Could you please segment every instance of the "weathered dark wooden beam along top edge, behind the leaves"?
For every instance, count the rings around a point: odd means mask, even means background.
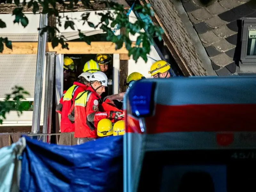
[[[129,9],[130,6],[126,3],[125,0],[113,0],[116,3],[119,3],[121,5],[124,5],[125,9]],[[77,11],[96,11],[96,10],[106,10],[106,9],[110,9],[109,7],[107,7],[105,4],[100,4],[101,2],[99,1],[93,1],[90,2],[90,6],[84,6],[84,4],[82,2],[78,2],[76,6],[74,6],[73,10],[68,10],[68,9],[64,9],[64,7],[61,4],[56,4],[56,8],[58,9],[59,12],[77,12]],[[65,4],[69,4],[69,2],[65,2]],[[42,12],[42,6],[40,4],[39,5],[39,12]],[[16,8],[17,6],[15,4],[0,4],[0,13],[1,14],[10,14],[13,12],[13,10]],[[23,12],[32,12],[33,10],[33,6],[28,8],[27,6],[23,7]]]

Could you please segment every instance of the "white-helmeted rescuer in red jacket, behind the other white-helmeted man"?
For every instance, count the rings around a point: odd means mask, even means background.
[[[89,72],[84,72],[79,75],[78,81],[74,82],[74,84],[60,99],[60,104],[56,107],[56,111],[60,111],[59,113],[61,113],[60,132],[75,131],[74,118],[70,119],[70,117],[68,117],[68,113],[78,93],[83,92],[88,88],[91,75],[92,74]]]

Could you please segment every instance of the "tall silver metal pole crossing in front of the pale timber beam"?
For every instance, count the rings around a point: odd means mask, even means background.
[[[47,14],[40,14],[39,28],[47,26]],[[35,94],[34,94],[34,109],[32,119],[32,133],[40,131],[40,114],[43,92],[43,79],[44,79],[44,56],[45,46],[47,40],[47,32],[40,36],[41,30],[38,32],[38,47],[37,47],[37,60],[36,60],[36,82],[35,82]]]

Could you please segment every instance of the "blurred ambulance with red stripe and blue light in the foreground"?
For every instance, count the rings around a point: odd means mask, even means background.
[[[143,79],[124,103],[124,192],[253,190],[256,77]]]

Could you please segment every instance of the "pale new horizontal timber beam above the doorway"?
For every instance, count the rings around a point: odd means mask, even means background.
[[[116,45],[112,42],[91,42],[91,45],[85,42],[67,42],[68,49],[62,49],[59,44],[54,49],[52,43],[46,44],[46,52],[56,52],[57,54],[127,54],[125,46],[116,50]],[[135,46],[135,42],[132,43]],[[4,45],[4,51],[0,54],[37,54],[37,42],[12,42],[12,50]]]

